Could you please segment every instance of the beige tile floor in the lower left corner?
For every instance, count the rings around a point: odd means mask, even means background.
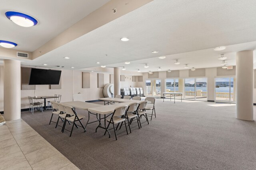
[[[25,121],[0,126],[0,170],[78,170]]]

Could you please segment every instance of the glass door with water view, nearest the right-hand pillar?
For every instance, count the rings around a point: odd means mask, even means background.
[[[236,78],[215,78],[215,101],[234,103],[236,101]]]

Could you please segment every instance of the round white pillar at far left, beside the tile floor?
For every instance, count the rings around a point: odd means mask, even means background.
[[[20,61],[4,60],[4,119],[20,119]]]

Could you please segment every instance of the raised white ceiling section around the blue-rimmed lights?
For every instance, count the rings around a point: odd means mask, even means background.
[[[34,51],[110,0],[1,0],[0,39],[17,43],[14,49]],[[7,11],[28,14],[38,24],[20,27],[5,16]]]

